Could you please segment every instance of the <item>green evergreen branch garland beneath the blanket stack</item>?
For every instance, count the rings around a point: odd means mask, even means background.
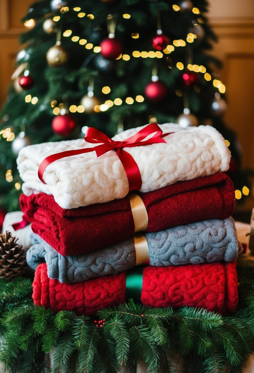
[[[242,372],[254,350],[254,262],[238,263],[239,308],[231,317],[207,310],[150,308],[133,300],[98,311],[98,320],[35,307],[31,280],[0,282],[0,360],[11,373]],[[96,324],[96,325],[95,325]],[[101,327],[100,327],[101,326]],[[46,354],[53,353],[53,369]]]

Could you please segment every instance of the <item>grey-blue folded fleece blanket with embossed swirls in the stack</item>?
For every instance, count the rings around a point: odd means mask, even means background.
[[[151,266],[179,266],[233,261],[240,249],[234,220],[213,219],[145,233]],[[35,233],[26,260],[33,269],[46,262],[48,276],[60,282],[78,282],[112,275],[135,266],[133,237],[91,253],[62,256]],[[85,243],[84,243],[85,244]]]

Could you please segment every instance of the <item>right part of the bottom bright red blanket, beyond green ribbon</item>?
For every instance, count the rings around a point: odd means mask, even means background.
[[[238,305],[236,262],[150,267],[143,271],[141,302],[155,307],[186,305],[225,316]]]

